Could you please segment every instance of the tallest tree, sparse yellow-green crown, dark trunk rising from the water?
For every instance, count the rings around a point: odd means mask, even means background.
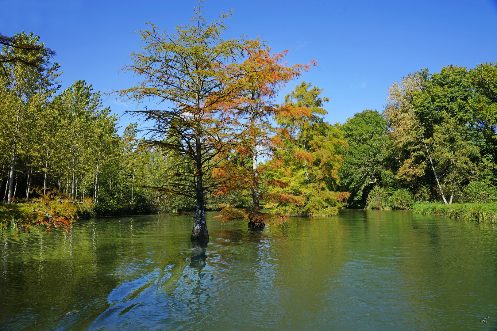
[[[148,138],[142,145],[162,152],[170,167],[163,185],[153,187],[159,195],[184,196],[196,201],[191,239],[208,239],[204,196],[231,180],[212,176],[228,151],[235,149],[245,134],[233,125],[226,105],[246,89],[247,52],[264,46],[258,40],[222,39],[226,29],[223,13],[208,23],[197,7],[191,21],[177,26],[174,34],[140,31],[140,53],[132,53],[133,64],[124,67],[142,81],[117,91],[123,100],[151,101],[155,106],[132,111],[147,123]]]

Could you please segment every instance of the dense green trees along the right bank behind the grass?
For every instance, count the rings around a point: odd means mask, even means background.
[[[337,125],[349,144],[341,172],[349,205],[398,190],[444,203],[494,199],[496,86],[493,63],[422,69],[389,88],[382,114],[365,110]]]

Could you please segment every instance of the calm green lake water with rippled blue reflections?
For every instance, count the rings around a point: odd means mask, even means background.
[[[251,231],[214,215],[206,247],[164,214],[0,231],[0,330],[497,328],[496,225],[344,210]]]

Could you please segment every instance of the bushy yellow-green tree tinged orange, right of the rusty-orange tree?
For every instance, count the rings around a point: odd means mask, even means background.
[[[286,144],[282,157],[291,174],[279,171],[272,176],[289,184],[285,192],[303,199],[300,205],[286,207],[290,214],[333,215],[349,197],[348,192],[337,192],[338,171],[343,164],[340,147],[347,143],[322,117],[328,114],[322,107],[329,100],[320,97],[322,91],[303,81],[285,96],[277,116]]]

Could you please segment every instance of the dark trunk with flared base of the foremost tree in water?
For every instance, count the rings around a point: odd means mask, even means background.
[[[197,189],[197,211],[195,220],[193,222],[193,229],[191,231],[191,240],[209,240],[209,232],[207,231],[207,224],[205,223],[205,205],[204,205],[204,186],[202,174],[202,145],[200,137],[196,139],[196,189]]]

